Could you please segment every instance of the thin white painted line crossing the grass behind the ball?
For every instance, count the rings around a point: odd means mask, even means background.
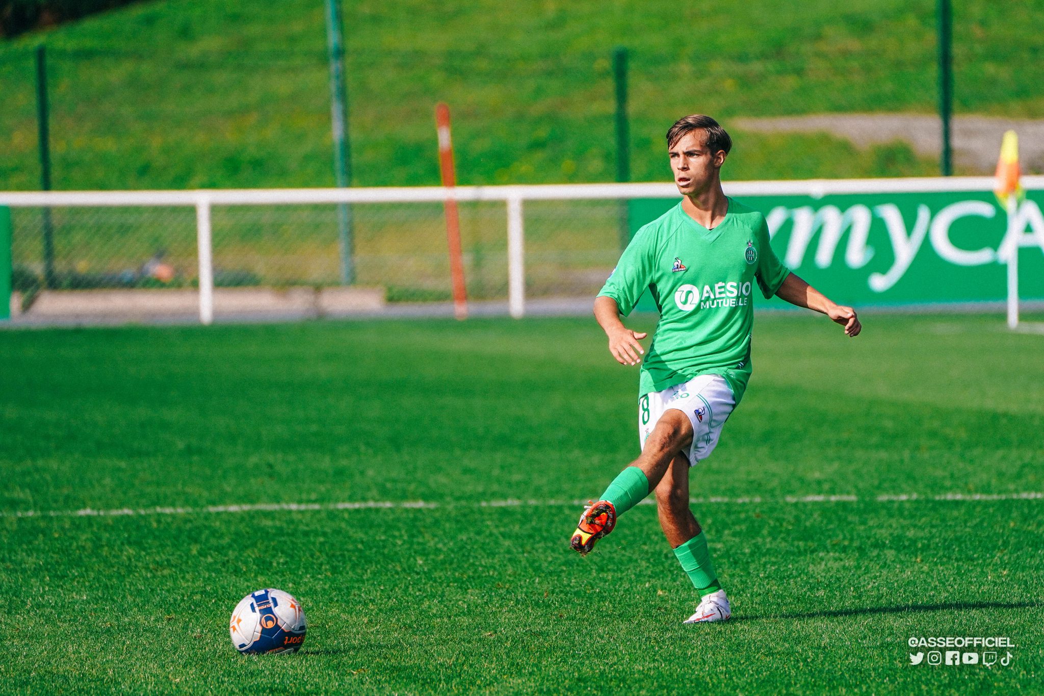
[[[860,500],[873,500],[879,503],[912,502],[912,501],[992,501],[992,500],[1044,500],[1044,493],[1004,493],[1004,494],[964,494],[948,493],[942,495],[881,495],[860,498],[859,496],[786,496],[785,498],[761,498],[760,496],[728,498],[690,498],[693,504],[723,503],[745,505],[751,503],[854,503]],[[95,518],[124,517],[144,514],[218,514],[221,512],[279,512],[279,511],[311,511],[311,510],[363,510],[373,508],[389,509],[433,509],[452,507],[541,507],[541,506],[582,506],[583,500],[490,500],[477,503],[431,503],[416,501],[360,501],[351,503],[246,503],[243,505],[210,505],[207,507],[121,507],[110,510],[96,510],[85,507],[79,510],[4,510],[0,518]],[[656,501],[646,498],[640,504],[655,505]]]

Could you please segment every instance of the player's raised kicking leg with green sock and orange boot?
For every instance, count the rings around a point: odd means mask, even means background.
[[[582,555],[595,542],[613,531],[616,517],[626,512],[651,493],[663,478],[671,460],[692,443],[692,424],[678,409],[668,409],[645,440],[641,455],[613,479],[598,502],[580,515],[570,546]]]

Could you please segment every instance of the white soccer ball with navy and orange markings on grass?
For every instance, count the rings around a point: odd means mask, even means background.
[[[229,632],[244,654],[296,652],[305,642],[305,611],[282,590],[258,590],[236,604]]]

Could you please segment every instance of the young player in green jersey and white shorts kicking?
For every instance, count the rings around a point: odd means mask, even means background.
[[[667,131],[682,201],[646,224],[598,293],[594,314],[617,362],[642,362],[644,333],[627,329],[648,289],[660,311],[641,367],[638,434],[642,453],[580,515],[571,546],[582,555],[613,531],[616,518],[656,491],[660,525],[701,595],[685,623],[725,621],[732,610],[714,573],[707,537],[689,510],[689,467],[717,445],[721,426],[751,378],[753,288],[861,329],[851,307],[834,304],[789,272],[768,245],[764,216],[721,191],[732,139],[709,116],[686,116]]]

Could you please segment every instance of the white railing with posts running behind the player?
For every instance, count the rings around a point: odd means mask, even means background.
[[[1044,189],[1044,176],[1023,176],[1024,189]],[[993,191],[992,176],[935,176],[918,178],[849,178],[779,182],[726,182],[725,192],[743,195],[807,195],[818,198],[851,193],[928,193]],[[193,191],[0,191],[0,206],[11,208],[185,206],[196,209],[199,263],[199,321],[214,318],[214,280],[211,259],[212,206],[280,206],[308,203],[390,203],[496,201],[506,205],[508,249],[508,308],[512,316],[525,314],[523,205],[526,200],[597,200],[678,198],[673,183],[549,184],[518,186],[387,187],[352,189],[200,189]],[[1012,255],[1013,257],[1015,255]],[[1009,277],[1017,273],[1013,267]],[[1017,295],[1009,285],[1009,303]]]

